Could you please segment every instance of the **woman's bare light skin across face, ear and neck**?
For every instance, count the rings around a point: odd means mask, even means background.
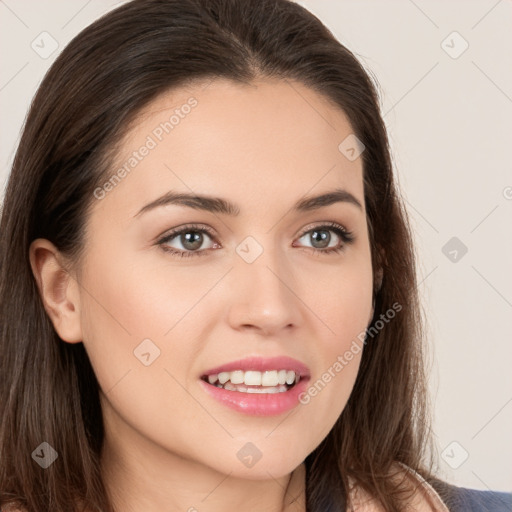
[[[303,461],[345,407],[362,352],[310,403],[279,416],[228,409],[199,376],[234,359],[288,355],[315,382],[366,329],[373,269],[362,160],[338,150],[353,133],[345,114],[305,86],[215,80],[153,101],[122,141],[117,164],[191,96],[198,105],[190,114],[103,199],[92,198],[80,265],[38,239],[32,268],[56,331],[84,343],[98,378],[102,468],[120,510],[305,510]],[[337,187],[363,208],[338,202],[291,211],[303,196]],[[169,190],[225,198],[240,214],[168,205],[136,216]],[[330,246],[345,247],[322,254],[310,235],[324,222],[354,241],[328,231]],[[189,223],[215,234],[203,235],[202,256],[180,258],[158,245]],[[247,236],[263,248],[250,264],[235,250]],[[166,244],[186,250],[180,237]],[[146,338],[160,349],[149,366],[133,353]],[[262,453],[251,468],[237,458],[248,442]]]

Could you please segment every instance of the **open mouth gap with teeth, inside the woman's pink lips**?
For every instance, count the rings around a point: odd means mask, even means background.
[[[299,381],[300,373],[294,370],[234,370],[231,372],[212,373],[203,375],[201,379],[217,388],[240,393],[275,394],[285,393]]]

